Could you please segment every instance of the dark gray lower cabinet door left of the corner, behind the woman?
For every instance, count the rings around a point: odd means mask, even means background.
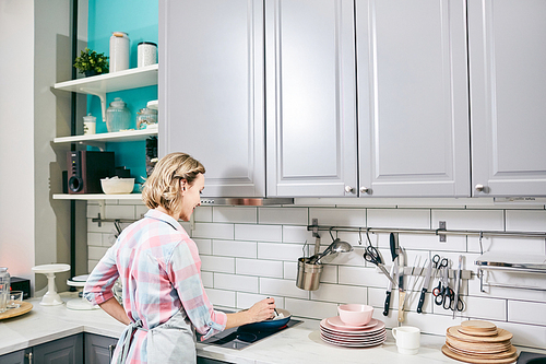
[[[34,347],[33,363],[83,364],[83,333]]]

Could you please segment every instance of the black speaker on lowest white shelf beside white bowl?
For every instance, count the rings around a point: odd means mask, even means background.
[[[114,152],[68,152],[68,192],[102,193],[100,178],[115,174]]]

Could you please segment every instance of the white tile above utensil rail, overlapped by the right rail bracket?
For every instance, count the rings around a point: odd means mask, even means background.
[[[503,231],[502,210],[432,210],[432,228],[446,221],[448,230]]]

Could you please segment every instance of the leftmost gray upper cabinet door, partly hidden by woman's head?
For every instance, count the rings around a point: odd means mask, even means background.
[[[163,0],[159,45],[159,155],[202,162],[203,196],[265,196],[262,1]]]

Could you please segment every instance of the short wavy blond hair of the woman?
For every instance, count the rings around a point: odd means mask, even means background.
[[[157,162],[152,175],[142,188],[142,200],[150,209],[163,207],[171,215],[181,209],[180,180],[192,185],[199,174],[204,174],[204,166],[186,153],[170,153]]]

